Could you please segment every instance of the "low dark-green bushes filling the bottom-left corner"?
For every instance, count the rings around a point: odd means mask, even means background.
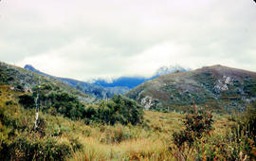
[[[9,142],[2,144],[1,160],[65,160],[71,152],[82,149],[77,139],[60,142],[52,137],[29,138],[22,134]]]

